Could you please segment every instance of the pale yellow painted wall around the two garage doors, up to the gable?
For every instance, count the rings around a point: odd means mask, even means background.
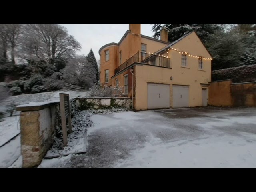
[[[192,33],[176,43],[173,48],[193,55],[211,58],[196,34]],[[181,54],[177,51],[169,51],[172,69],[156,66],[136,65],[136,110],[147,109],[147,83],[170,84],[170,107],[172,106],[172,84],[188,85],[189,107],[202,105],[202,84],[211,81],[211,60],[203,60],[203,70],[198,69],[198,58],[188,58],[188,68],[181,66]],[[170,77],[173,80],[170,80]]]

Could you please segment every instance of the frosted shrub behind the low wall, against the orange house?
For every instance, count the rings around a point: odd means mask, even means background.
[[[94,85],[90,88],[91,97],[123,97],[126,96],[123,93],[122,87],[108,87],[100,85]]]

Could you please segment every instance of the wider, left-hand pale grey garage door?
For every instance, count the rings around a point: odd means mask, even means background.
[[[148,83],[148,109],[170,108],[170,85]]]

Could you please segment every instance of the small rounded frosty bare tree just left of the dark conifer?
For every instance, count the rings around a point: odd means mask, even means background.
[[[63,78],[70,84],[90,88],[96,80],[95,68],[85,56],[76,56],[64,68]]]

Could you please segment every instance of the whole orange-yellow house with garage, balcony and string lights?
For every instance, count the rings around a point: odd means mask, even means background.
[[[129,24],[118,43],[99,50],[100,82],[124,87],[135,110],[206,106],[211,55],[196,32],[172,43],[167,38],[165,28],[158,40]]]

